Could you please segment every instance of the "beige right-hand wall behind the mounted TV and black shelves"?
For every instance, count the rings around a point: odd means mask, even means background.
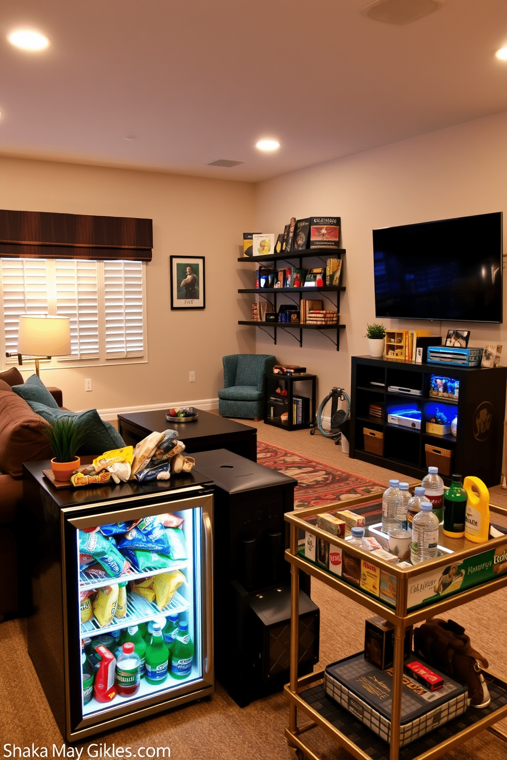
[[[506,134],[504,113],[259,183],[255,218],[263,232],[280,232],[292,216],[341,216],[347,249],[343,281],[347,290],[341,297],[341,321],[347,327],[341,332],[339,352],[315,331],[303,331],[300,349],[281,331],[273,347],[260,330],[256,331],[257,352],[274,351],[280,361],[301,364],[318,375],[319,401],[335,385],[348,391],[350,356],[368,353],[363,336],[366,323],[375,321],[372,229],[505,211]],[[504,249],[507,252],[505,242]],[[502,364],[507,364],[505,306],[504,320],[504,325],[470,324],[463,328],[471,330],[471,346],[502,343]],[[383,322],[387,328],[427,326],[433,334],[443,336],[454,326],[445,322]],[[330,408],[328,405],[326,413]]]

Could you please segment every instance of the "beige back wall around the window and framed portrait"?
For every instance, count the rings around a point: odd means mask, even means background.
[[[252,226],[253,185],[163,173],[0,158],[0,207],[149,217],[153,261],[147,265],[148,363],[41,369],[46,385],[74,409],[166,407],[217,398],[224,353],[255,351],[238,320],[236,259]],[[206,308],[170,309],[170,255],[204,255]],[[195,371],[196,382],[189,383]],[[23,372],[33,374],[33,364]],[[93,391],[84,392],[84,378]]]

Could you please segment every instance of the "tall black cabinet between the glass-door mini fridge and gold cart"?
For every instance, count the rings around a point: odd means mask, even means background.
[[[225,449],[195,454],[214,481],[214,662],[240,707],[289,681],[288,524],[297,481]],[[318,661],[319,610],[299,573],[300,673]]]

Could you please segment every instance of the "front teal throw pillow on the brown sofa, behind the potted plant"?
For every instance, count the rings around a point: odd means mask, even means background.
[[[79,426],[84,428],[84,440],[78,454],[85,456],[91,454],[97,456],[104,451],[111,451],[112,448],[122,448],[125,441],[119,434],[118,430],[106,420],[101,420],[97,409],[87,409],[84,412],[70,412],[65,409],[56,409],[47,407],[46,404],[40,404],[37,401],[29,401],[30,407],[36,414],[40,414],[44,420],[50,424],[54,423],[59,417],[73,417],[78,421]]]

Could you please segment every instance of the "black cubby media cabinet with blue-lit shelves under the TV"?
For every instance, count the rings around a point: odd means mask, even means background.
[[[353,356],[349,456],[419,480],[429,464],[441,463],[445,483],[460,473],[498,486],[506,379],[507,367]],[[431,422],[436,413],[449,423],[439,432]]]

